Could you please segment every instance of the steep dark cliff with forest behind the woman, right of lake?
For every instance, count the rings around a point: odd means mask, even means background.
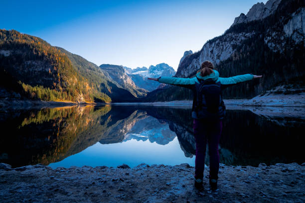
[[[226,89],[223,93],[226,98],[251,98],[284,83],[304,89],[304,6],[301,0],[255,4],[247,15],[236,18],[223,35],[208,40],[200,51],[183,56],[175,77],[192,77],[200,64],[209,60],[220,77],[263,75],[261,80]],[[168,87],[153,91],[146,101],[191,98],[188,90]]]

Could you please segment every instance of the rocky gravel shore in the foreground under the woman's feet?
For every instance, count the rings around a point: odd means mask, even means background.
[[[204,176],[207,177],[207,166]],[[220,164],[218,190],[194,186],[194,168],[141,164],[118,168],[56,168],[34,165],[11,169],[0,164],[1,203],[129,202],[129,203],[302,203],[305,163],[266,166]]]

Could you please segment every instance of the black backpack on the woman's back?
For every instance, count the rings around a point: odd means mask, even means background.
[[[198,81],[195,84],[197,119],[222,119],[225,116],[225,105],[222,101],[221,84],[212,79]]]

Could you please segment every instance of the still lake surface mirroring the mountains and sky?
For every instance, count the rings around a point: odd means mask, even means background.
[[[52,167],[123,163],[133,167],[143,162],[194,165],[189,108],[89,105],[0,115],[0,127],[7,133],[0,136],[0,162],[12,167],[38,163]],[[221,163],[305,162],[305,138],[300,134],[304,118],[227,110],[223,123]]]

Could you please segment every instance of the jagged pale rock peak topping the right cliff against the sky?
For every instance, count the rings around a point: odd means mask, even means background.
[[[246,15],[241,13],[239,17],[236,17],[232,26],[238,23],[250,22],[252,20],[260,20],[265,18],[274,13],[280,2],[281,0],[268,0],[266,4],[263,2],[256,3],[250,8]]]

